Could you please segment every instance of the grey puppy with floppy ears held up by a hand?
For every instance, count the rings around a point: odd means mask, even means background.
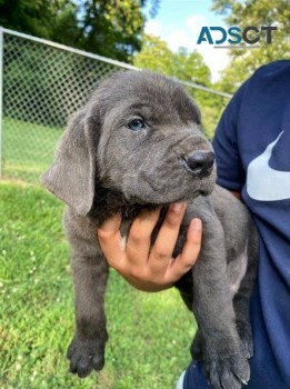
[[[256,232],[242,203],[216,186],[214,170],[198,107],[177,82],[160,74],[114,73],[73,116],[56,161],[41,179],[69,206],[64,228],[76,289],[71,372],[86,377],[104,365],[109,267],[96,239],[97,227],[120,212],[126,235],[140,210],[161,206],[160,226],[170,203],[187,201],[174,256],[190,220],[198,217],[203,222],[199,259],[177,282],[199,325],[191,352],[203,360],[214,389],[238,389],[249,380]]]

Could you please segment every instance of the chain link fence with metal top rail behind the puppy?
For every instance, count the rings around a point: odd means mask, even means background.
[[[121,68],[133,67],[0,28],[0,177],[38,182],[68,117]]]

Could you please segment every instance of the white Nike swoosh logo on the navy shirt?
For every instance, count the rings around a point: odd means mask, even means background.
[[[269,166],[272,149],[278,143],[283,131],[266,150],[248,166],[248,194],[260,201],[277,201],[290,199],[290,171],[280,171]]]

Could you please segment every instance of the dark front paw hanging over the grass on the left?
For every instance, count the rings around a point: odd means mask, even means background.
[[[94,339],[80,341],[74,337],[69,346],[67,358],[70,360],[70,372],[80,378],[89,376],[92,369],[99,371],[104,365],[104,345]]]

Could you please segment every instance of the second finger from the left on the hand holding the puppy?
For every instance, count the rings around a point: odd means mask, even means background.
[[[133,263],[147,262],[151,247],[151,235],[160,216],[160,209],[156,211],[142,211],[133,221],[128,240],[127,257]]]

